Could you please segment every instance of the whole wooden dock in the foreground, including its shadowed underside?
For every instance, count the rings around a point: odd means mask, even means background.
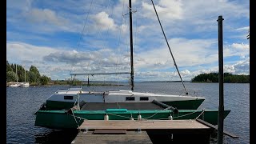
[[[78,129],[72,143],[207,143],[213,130],[196,120],[85,120]]]

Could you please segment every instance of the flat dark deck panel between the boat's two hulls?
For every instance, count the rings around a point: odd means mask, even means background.
[[[127,110],[163,110],[164,107],[158,106],[153,102],[113,102],[99,103],[88,102],[82,106],[81,110],[106,110],[106,109],[127,109]]]

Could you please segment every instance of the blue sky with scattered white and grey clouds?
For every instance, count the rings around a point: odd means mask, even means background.
[[[134,81],[180,80],[150,0],[132,0]],[[250,1],[154,0],[182,80],[218,72],[218,16],[224,72],[250,74]],[[6,60],[53,80],[72,73],[130,72],[128,0],[8,0]],[[87,76],[78,77],[79,79]],[[130,75],[92,80],[129,81]]]

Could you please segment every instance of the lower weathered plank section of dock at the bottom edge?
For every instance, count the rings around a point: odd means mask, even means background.
[[[93,131],[79,132],[72,144],[123,143],[152,144],[146,131],[126,131],[126,134],[94,134]]]

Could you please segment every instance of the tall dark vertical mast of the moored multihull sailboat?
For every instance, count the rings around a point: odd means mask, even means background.
[[[130,81],[131,90],[134,90],[134,48],[133,48],[133,17],[131,11],[131,0],[129,0],[129,15],[130,15]]]

